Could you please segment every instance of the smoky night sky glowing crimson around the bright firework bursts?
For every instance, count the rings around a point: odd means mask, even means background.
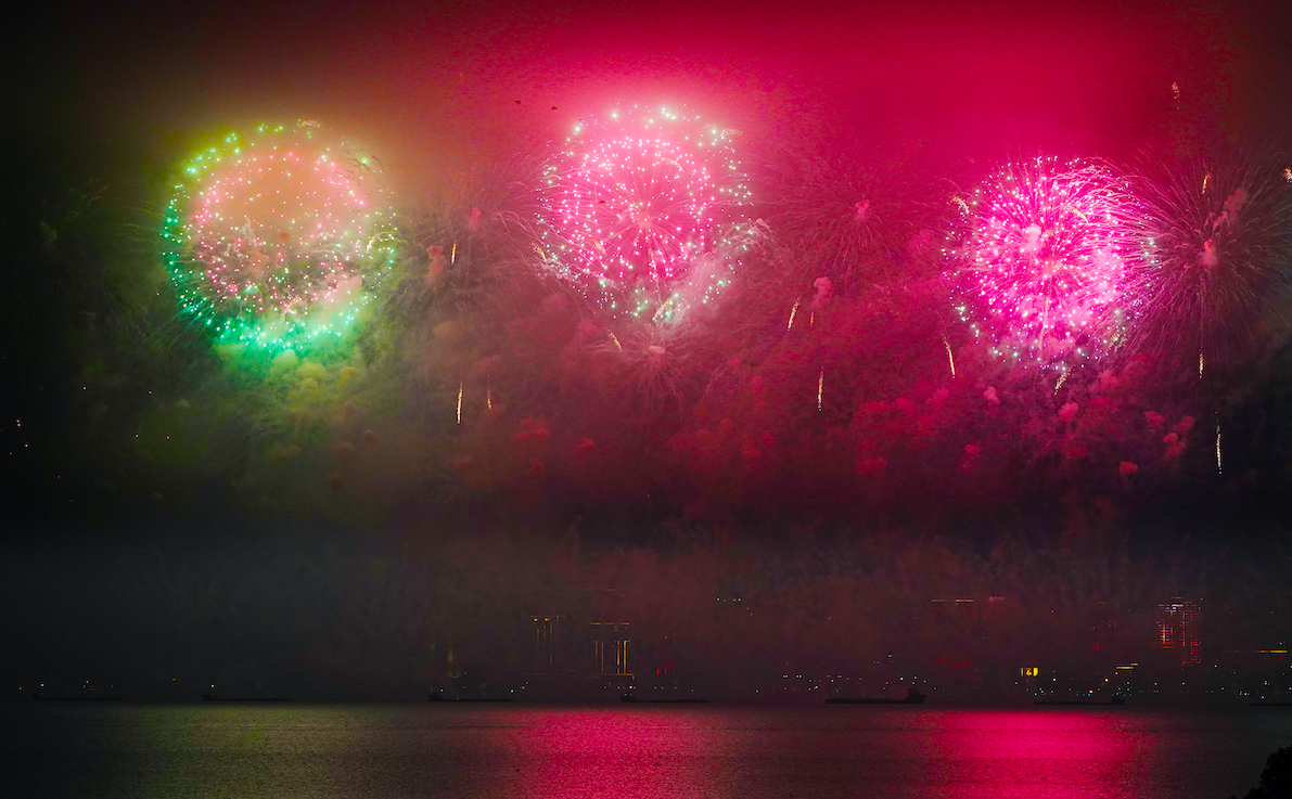
[[[6,696],[399,698],[453,676],[446,648],[505,683],[552,612],[633,622],[647,661],[682,640],[699,685],[1061,660],[1099,603],[1137,630],[1177,595],[1217,652],[1292,638],[1287,201],[1205,379],[1167,334],[1059,386],[1006,368],[929,245],[1039,155],[1292,167],[1287,4],[56,3],[5,27]],[[461,232],[525,218],[574,124],[638,102],[733,133],[779,253],[668,329],[607,320],[512,228]],[[178,312],[163,212],[199,145],[301,119],[380,160],[403,279],[341,350],[248,365]],[[864,278],[805,254],[814,197],[846,192],[882,231]],[[979,595],[1031,621],[953,645],[894,621]]]

